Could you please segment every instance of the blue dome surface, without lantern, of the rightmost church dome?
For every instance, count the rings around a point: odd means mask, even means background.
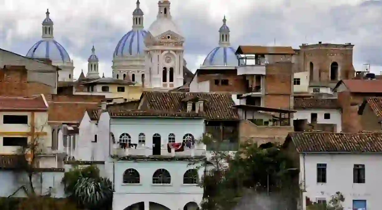
[[[216,47],[204,59],[203,66],[238,66],[235,51],[232,47]]]

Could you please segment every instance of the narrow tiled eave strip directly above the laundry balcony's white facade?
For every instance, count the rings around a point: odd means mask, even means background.
[[[173,111],[158,111],[158,110],[109,110],[112,117],[139,117],[139,116],[157,116],[171,118],[202,118],[203,115],[196,112],[173,112]]]

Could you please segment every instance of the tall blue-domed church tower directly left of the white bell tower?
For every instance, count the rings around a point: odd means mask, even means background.
[[[113,53],[113,78],[125,79],[144,84],[145,56],[144,39],[147,31],[143,25],[143,11],[139,8],[137,0],[133,11],[133,28],[127,32],[118,42]]]

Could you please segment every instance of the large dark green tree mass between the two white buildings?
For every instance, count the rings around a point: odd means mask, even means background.
[[[203,141],[219,144],[208,138]],[[292,160],[281,146],[268,143],[259,147],[247,143],[232,155],[222,151],[212,153],[204,165],[209,171],[201,183],[202,209],[232,209],[249,191],[281,193],[288,202],[295,202],[299,196],[298,170],[293,168]]]

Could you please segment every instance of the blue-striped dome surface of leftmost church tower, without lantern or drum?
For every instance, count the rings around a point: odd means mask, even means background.
[[[26,57],[29,58],[49,58],[51,61],[70,62],[70,57],[65,48],[55,40],[40,40],[34,44]]]

